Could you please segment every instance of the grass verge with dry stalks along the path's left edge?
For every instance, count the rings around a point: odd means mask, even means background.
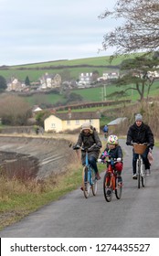
[[[103,166],[99,165],[99,170]],[[45,181],[0,177],[0,229],[23,219],[50,202],[58,200],[81,185],[82,166],[70,166],[69,171],[49,176]]]

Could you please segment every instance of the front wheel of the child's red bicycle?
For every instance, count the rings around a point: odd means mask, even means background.
[[[104,179],[103,179],[103,192],[104,192],[104,197],[106,201],[111,202],[111,198],[112,198],[111,176],[108,175],[107,173],[104,175]]]

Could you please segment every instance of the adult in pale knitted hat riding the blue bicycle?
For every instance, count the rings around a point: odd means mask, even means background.
[[[92,146],[93,144],[95,145]],[[97,167],[97,159],[100,155],[100,148],[102,144],[97,131],[88,122],[83,123],[81,126],[78,142],[74,147],[76,148],[78,147],[78,145],[84,148],[90,148],[92,146],[92,148],[89,151],[89,163],[96,173],[96,178],[101,179],[101,176],[99,175],[99,171]],[[82,165],[85,165],[85,158],[86,158],[86,153],[82,151],[81,152]]]

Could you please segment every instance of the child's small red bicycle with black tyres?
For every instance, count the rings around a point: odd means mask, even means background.
[[[115,192],[117,199],[121,199],[122,184],[118,185],[118,176],[117,171],[115,170],[115,164],[118,161],[116,159],[110,159],[110,157],[107,156],[106,159],[99,162],[107,165],[107,169],[103,178],[103,192],[106,201],[111,202],[113,192]]]

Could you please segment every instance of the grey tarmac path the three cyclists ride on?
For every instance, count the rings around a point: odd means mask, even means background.
[[[0,231],[2,238],[158,238],[159,237],[159,149],[154,147],[154,164],[146,187],[132,180],[132,147],[120,140],[124,151],[122,198],[113,194],[105,201],[102,178],[98,195],[84,198],[80,188],[38,209]],[[104,168],[104,165],[103,165]]]

